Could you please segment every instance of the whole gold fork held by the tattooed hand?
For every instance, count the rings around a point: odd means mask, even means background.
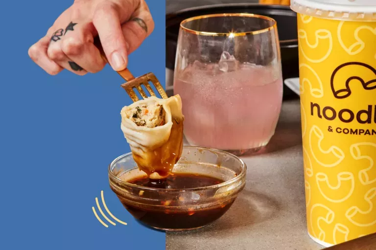
[[[100,54],[102,55],[103,59],[105,59],[107,62],[106,55],[104,54],[102,45],[100,44],[99,40],[96,39],[94,41],[94,44],[99,49]],[[151,88],[149,82],[153,83],[155,88],[157,89],[158,93],[161,95],[163,99],[167,99],[167,94],[164,92],[164,89],[157,79],[157,77],[153,73],[147,73],[145,75],[142,75],[140,77],[135,78],[132,73],[129,71],[128,68],[124,70],[117,71],[118,74],[125,80],[127,83],[121,84],[121,87],[127,91],[129,97],[132,99],[133,102],[139,101],[139,97],[135,93],[134,89],[137,89],[143,99],[148,98],[145,91],[143,91],[141,85],[144,85],[147,92],[150,94],[150,96],[156,96],[153,89]]]

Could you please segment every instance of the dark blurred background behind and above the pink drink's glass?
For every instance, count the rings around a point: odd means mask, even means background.
[[[298,32],[296,13],[290,0],[166,0],[166,92],[173,95],[173,79],[180,22],[215,13],[252,13],[277,21],[282,57],[282,76],[289,86],[299,84]],[[286,84],[283,100],[299,96]]]

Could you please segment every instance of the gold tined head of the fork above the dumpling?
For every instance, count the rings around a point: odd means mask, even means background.
[[[133,90],[134,88],[136,88],[140,92],[143,99],[148,97],[146,95],[146,93],[143,91],[141,85],[145,86],[146,90],[149,92],[149,94],[151,96],[156,96],[153,89],[151,88],[149,82],[153,83],[153,85],[155,86],[158,93],[161,95],[161,97],[163,99],[167,99],[166,92],[164,92],[164,89],[163,89],[161,83],[159,82],[159,80],[157,79],[157,77],[153,73],[147,73],[147,74],[140,76],[140,77],[137,77],[137,78],[135,78],[135,79],[133,79],[133,80],[127,82],[127,83],[123,83],[123,84],[121,84],[121,87],[124,88],[125,91],[127,91],[129,97],[132,99],[133,102],[137,102],[137,101],[139,101],[139,97],[137,96],[137,94]]]

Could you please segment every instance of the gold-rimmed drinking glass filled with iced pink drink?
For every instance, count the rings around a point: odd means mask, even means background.
[[[258,152],[274,135],[282,87],[275,20],[213,14],[180,24],[174,94],[183,101],[190,145]]]

